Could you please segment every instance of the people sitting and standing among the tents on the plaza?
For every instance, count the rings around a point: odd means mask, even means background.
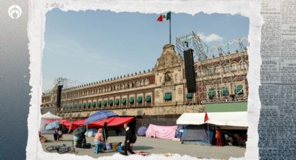
[[[136,136],[136,122],[133,120],[132,122],[125,123],[123,125],[125,129],[125,141],[124,145],[120,146],[122,149],[120,150],[120,154],[128,155],[128,152],[130,154],[135,154],[135,152],[132,150],[132,143],[135,143],[137,140]],[[178,132],[178,135],[176,137],[180,138],[182,136],[183,127],[179,128],[180,132]],[[220,127],[213,127],[214,134],[212,137],[212,145],[222,146],[222,145],[237,145],[240,147],[246,146],[247,141],[247,134],[244,134],[243,132],[235,133],[235,131],[228,131],[223,130],[221,131]],[[68,129],[68,134],[73,134],[73,146],[76,147],[83,147],[87,144],[91,145],[90,143],[86,143],[86,131],[87,129],[84,128],[82,131],[79,131],[79,133],[72,133],[72,125],[70,125]],[[117,134],[117,133],[116,133]],[[63,131],[62,126],[56,127],[54,129],[54,141],[60,141],[63,137]],[[98,132],[94,136],[93,140],[93,146],[97,146],[100,148],[100,152],[104,152],[104,150],[108,150],[107,147],[107,141],[109,137],[109,129],[107,122],[104,123],[104,126],[98,129]],[[42,137],[40,136],[40,139]],[[122,144],[122,143],[120,143]]]

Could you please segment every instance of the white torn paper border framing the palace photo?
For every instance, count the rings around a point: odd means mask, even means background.
[[[251,0],[200,0],[200,1],[120,1],[120,0],[29,0],[29,70],[32,86],[31,102],[28,116],[28,143],[26,146],[26,159],[94,159],[88,156],[77,156],[74,154],[55,154],[42,150],[38,138],[38,129],[40,125],[40,104],[42,96],[42,73],[41,60],[42,49],[44,48],[45,33],[45,14],[53,8],[60,8],[63,11],[68,10],[110,10],[118,12],[139,12],[139,13],[164,13],[171,11],[173,13],[187,13],[195,15],[196,13],[229,13],[231,15],[240,14],[249,17],[249,72],[247,79],[249,82],[248,97],[248,141],[244,157],[240,159],[258,159],[258,120],[260,115],[260,100],[258,86],[260,85],[260,34],[263,19],[260,16],[260,1]],[[100,159],[196,159],[189,156],[164,157],[162,155],[152,154],[148,157],[132,155],[124,157],[115,154],[111,157],[100,157]],[[237,158],[231,158],[237,159]]]

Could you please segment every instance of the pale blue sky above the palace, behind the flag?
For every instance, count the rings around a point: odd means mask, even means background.
[[[49,11],[45,22],[42,90],[54,79],[83,83],[151,69],[169,43],[169,22],[157,14],[114,13],[106,10]],[[171,14],[171,38],[195,31],[207,45],[217,45],[249,33],[241,15]]]

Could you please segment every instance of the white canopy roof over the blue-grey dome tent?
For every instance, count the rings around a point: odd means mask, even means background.
[[[248,127],[247,112],[210,112],[208,123],[219,126]],[[183,113],[177,120],[177,125],[202,125],[207,122],[205,113]]]

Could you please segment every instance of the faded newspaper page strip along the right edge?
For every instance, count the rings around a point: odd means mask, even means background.
[[[290,159],[296,155],[295,8],[294,0],[262,1],[260,159]]]

